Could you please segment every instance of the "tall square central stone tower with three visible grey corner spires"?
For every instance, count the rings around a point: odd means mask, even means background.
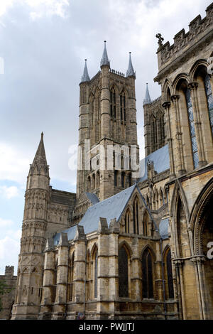
[[[77,198],[88,192],[104,200],[133,183],[131,149],[138,164],[139,147],[131,53],[126,75],[112,70],[104,41],[100,68],[90,79],[85,60],[80,82]]]

